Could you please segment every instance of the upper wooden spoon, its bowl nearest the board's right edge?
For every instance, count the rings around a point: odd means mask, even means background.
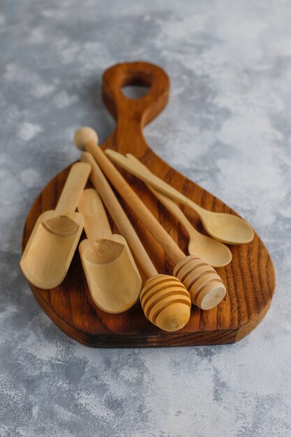
[[[205,230],[211,237],[227,244],[243,244],[252,241],[254,236],[253,229],[242,218],[232,214],[226,214],[225,212],[213,212],[204,209],[193,202],[193,200],[179,193],[179,191],[154,175],[154,173],[149,175],[149,170],[146,172],[141,168],[136,168],[132,161],[129,161],[126,156],[111,149],[106,149],[105,153],[114,163],[120,165],[120,167],[127,170],[131,175],[138,177],[146,184],[156,188],[156,190],[161,191],[177,202],[193,209],[200,217]]]

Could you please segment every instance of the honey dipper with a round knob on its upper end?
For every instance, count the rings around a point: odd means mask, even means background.
[[[80,128],[75,133],[75,145],[94,156],[112,185],[170,256],[176,265],[173,273],[186,286],[193,304],[201,309],[211,309],[219,304],[223,297],[225,297],[225,286],[220,276],[207,262],[193,255],[186,256],[181,251],[170,235],[167,234],[161,223],[158,223],[154,215],[151,214],[124,177],[121,176],[117,168],[107,158],[102,149],[97,147],[96,132],[91,128]]]

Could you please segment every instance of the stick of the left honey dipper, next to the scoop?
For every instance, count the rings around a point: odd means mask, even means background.
[[[110,215],[112,216],[114,223],[116,223],[117,228],[119,228],[121,234],[126,238],[130,249],[133,251],[135,258],[144,270],[144,273],[148,277],[156,275],[156,267],[154,267],[154,264],[151,262],[149,255],[145,251],[139,237],[137,237],[137,233],[133,229],[133,225],[128,220],[126,213],[119,204],[119,201],[114,195],[110,184],[108,184],[107,179],[103,175],[103,172],[101,172],[93,156],[87,152],[84,152],[81,156],[81,161],[91,165],[91,182],[100,194],[100,197],[105,203],[107,210],[110,212]]]

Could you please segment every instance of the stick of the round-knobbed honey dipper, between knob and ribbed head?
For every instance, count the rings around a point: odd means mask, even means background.
[[[135,214],[140,218],[140,221],[144,223],[149,232],[151,232],[151,235],[153,235],[157,242],[165,249],[165,252],[170,256],[172,261],[177,264],[179,260],[185,258],[185,254],[181,251],[179,246],[177,246],[163,226],[158,223],[156,217],[147,209],[142,200],[140,200],[135,191],[133,191],[133,188],[129,186],[110,159],[107,158],[103,150],[93,141],[88,142],[85,149],[94,156],[112,185],[117,189],[130,208],[133,209]]]

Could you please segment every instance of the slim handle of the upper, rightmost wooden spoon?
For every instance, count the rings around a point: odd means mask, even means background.
[[[109,156],[111,161],[113,161],[117,165],[120,165],[121,168],[124,168],[124,170],[128,171],[131,175],[138,177],[143,182],[145,182],[145,184],[153,186],[158,191],[161,191],[170,198],[190,207],[198,214],[198,216],[202,217],[202,215],[208,214],[208,211],[206,209],[200,207],[199,205],[197,205],[197,203],[186,198],[186,195],[179,193],[178,190],[167,184],[167,182],[163,181],[158,176],[154,175],[154,173],[152,173],[149,169],[147,169],[147,172],[145,172],[144,169],[137,168],[137,166],[133,164],[128,156],[119,154],[118,151],[112,149],[106,149],[105,154]]]

